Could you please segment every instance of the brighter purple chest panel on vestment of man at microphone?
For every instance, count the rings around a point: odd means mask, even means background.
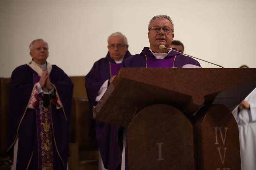
[[[157,58],[146,56],[146,62],[147,62],[146,67],[147,68],[171,68],[171,67],[174,67],[175,57],[166,58],[166,59],[157,59]]]

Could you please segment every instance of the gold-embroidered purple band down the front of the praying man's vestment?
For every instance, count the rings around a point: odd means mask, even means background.
[[[34,83],[39,82],[40,77],[34,74]],[[54,168],[54,155],[53,155],[53,126],[51,115],[51,104],[48,107],[43,105],[43,93],[38,94],[38,101],[36,105],[37,113],[37,143],[34,148],[38,153],[38,169],[55,169]]]

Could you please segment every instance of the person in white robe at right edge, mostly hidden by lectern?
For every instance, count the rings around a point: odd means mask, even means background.
[[[239,68],[248,69],[246,65]],[[256,169],[256,88],[232,111],[239,129],[242,170]]]

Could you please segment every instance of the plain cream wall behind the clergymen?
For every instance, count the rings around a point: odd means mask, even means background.
[[[49,44],[49,63],[70,76],[86,75],[106,55],[113,32],[126,35],[132,54],[148,47],[155,15],[172,18],[186,54],[225,68],[256,68],[255,8],[255,0],[0,0],[0,77],[31,60],[28,46],[37,38]]]

